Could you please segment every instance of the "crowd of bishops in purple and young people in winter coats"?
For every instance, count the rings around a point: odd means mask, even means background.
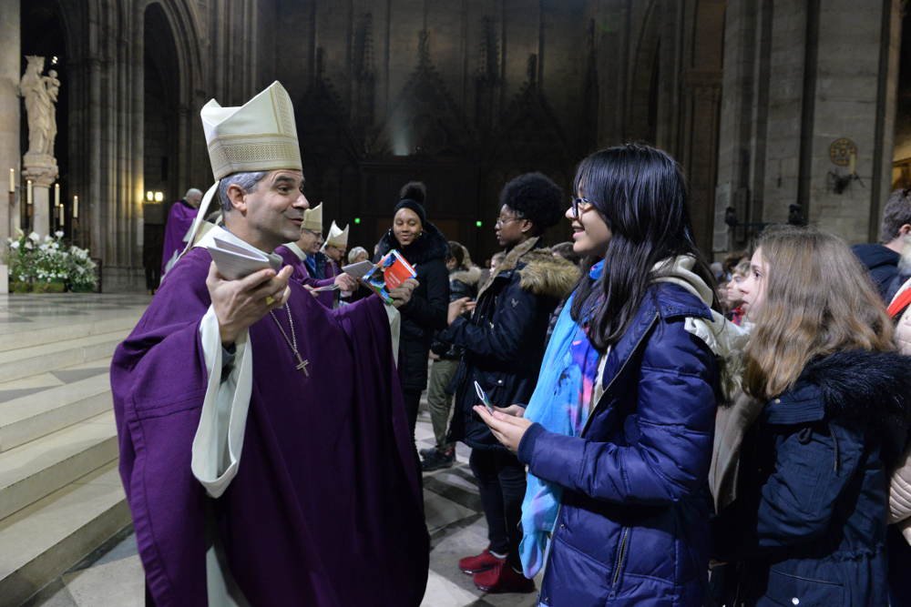
[[[216,185],[111,371],[148,602],[419,604],[421,472],[462,442],[487,544],[452,566],[481,591],[911,604],[907,190],[883,244],[769,227],[710,264],[679,164],[609,147],[569,193],[510,180],[479,268],[420,182],[373,255],[335,222],[323,238],[278,83],[202,114]],[[238,134],[293,146],[245,157]],[[571,241],[548,247],[561,221]],[[228,280],[215,237],[282,267]],[[393,250],[416,277],[384,304],[342,268]]]

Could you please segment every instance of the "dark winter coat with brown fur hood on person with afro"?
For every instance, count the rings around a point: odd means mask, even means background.
[[[455,411],[450,440],[473,449],[505,450],[472,407],[477,381],[496,407],[531,398],[544,357],[550,313],[578,281],[579,271],[530,238],[509,252],[481,288],[471,319],[455,319],[439,338],[465,349],[450,388]]]

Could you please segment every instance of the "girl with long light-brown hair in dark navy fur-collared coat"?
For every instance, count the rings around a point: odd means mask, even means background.
[[[887,470],[906,440],[911,364],[839,238],[768,231],[740,288],[755,322],[744,389],[765,405],[716,521],[734,572],[723,602],[885,605]]]

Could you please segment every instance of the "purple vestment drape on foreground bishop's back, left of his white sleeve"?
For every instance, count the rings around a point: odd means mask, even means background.
[[[205,284],[185,279],[189,269],[171,270],[111,362],[120,476],[158,605],[206,604],[205,492],[189,446],[206,392],[199,321],[210,302]]]

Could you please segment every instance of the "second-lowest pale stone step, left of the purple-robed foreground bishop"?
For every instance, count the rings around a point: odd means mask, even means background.
[[[0,520],[117,457],[113,411],[0,453]]]

